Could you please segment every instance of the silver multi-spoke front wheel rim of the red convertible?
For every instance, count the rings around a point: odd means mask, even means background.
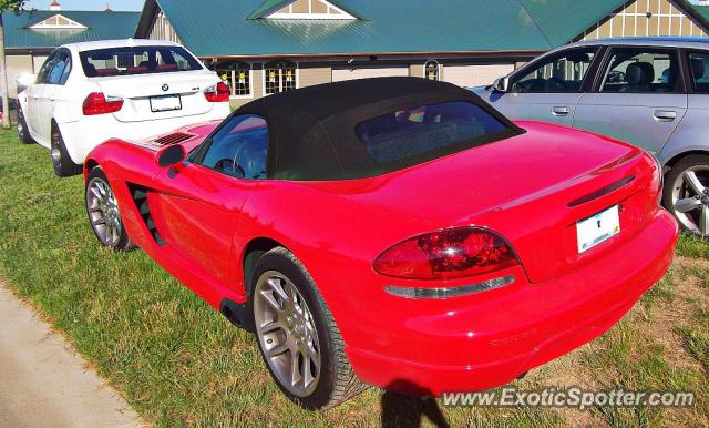
[[[86,210],[91,226],[103,245],[115,247],[121,240],[123,223],[119,203],[109,183],[100,177],[91,179],[86,192]]]

